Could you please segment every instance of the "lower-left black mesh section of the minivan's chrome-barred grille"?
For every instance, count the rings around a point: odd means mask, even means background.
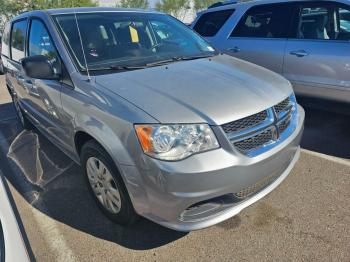
[[[273,129],[265,130],[255,136],[234,143],[234,146],[243,154],[267,145],[274,140]]]

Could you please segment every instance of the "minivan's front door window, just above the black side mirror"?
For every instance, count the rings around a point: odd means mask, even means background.
[[[52,63],[54,70],[58,73],[60,60],[51,37],[44,24],[39,20],[32,20],[29,32],[28,55],[47,56]]]

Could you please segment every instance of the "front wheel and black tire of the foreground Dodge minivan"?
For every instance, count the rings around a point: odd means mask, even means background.
[[[80,159],[87,185],[102,212],[117,224],[133,224],[138,216],[131,203],[124,181],[108,153],[96,141],[90,140],[83,145]],[[106,172],[103,172],[104,168],[107,169]],[[119,192],[119,201],[116,201],[118,194],[115,190]],[[111,197],[114,201],[111,200]]]

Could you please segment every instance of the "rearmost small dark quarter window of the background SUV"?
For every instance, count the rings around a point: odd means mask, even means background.
[[[193,29],[204,37],[215,36],[233,12],[234,10],[230,9],[205,13],[198,19]]]

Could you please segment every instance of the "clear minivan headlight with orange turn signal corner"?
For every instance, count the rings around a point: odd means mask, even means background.
[[[145,154],[161,160],[181,160],[198,152],[219,148],[207,124],[135,125]]]

